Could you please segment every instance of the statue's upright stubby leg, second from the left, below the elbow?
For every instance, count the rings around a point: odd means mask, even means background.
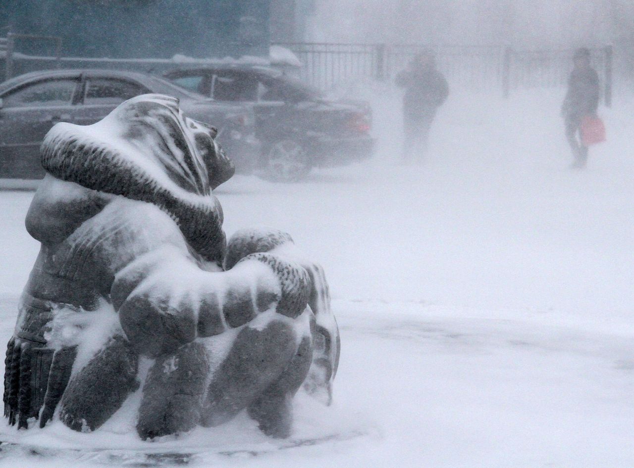
[[[136,430],[141,439],[193,429],[209,374],[207,351],[190,343],[170,356],[157,358],[143,385]]]

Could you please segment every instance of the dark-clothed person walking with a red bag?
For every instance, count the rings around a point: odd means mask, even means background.
[[[597,72],[590,66],[590,51],[578,49],[573,56],[574,69],[568,79],[568,91],[561,114],[566,122],[566,138],[573,151],[571,167],[584,168],[588,162],[588,147],[579,139],[581,122],[586,116],[597,115],[599,87]]]

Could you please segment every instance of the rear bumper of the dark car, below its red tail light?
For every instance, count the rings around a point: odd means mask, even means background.
[[[375,139],[318,137],[306,144],[311,165],[338,166],[366,160],[374,154]]]

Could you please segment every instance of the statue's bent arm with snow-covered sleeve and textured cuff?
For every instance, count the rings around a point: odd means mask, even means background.
[[[146,253],[115,275],[112,303],[139,353],[172,353],[197,337],[242,326],[271,308],[295,318],[310,280],[275,255],[249,255],[226,272],[207,272],[172,246]]]

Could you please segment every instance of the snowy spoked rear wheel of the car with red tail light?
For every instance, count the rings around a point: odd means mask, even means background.
[[[293,140],[273,143],[266,157],[266,177],[281,182],[300,180],[310,172],[306,150]]]

